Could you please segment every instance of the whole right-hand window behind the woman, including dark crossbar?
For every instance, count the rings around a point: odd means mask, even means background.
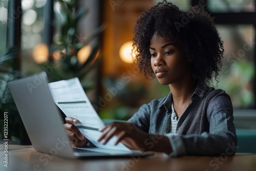
[[[233,107],[256,108],[255,1],[207,1],[224,42],[223,67],[218,88],[231,97]]]

